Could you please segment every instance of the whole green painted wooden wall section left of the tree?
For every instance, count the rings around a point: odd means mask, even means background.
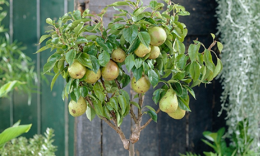
[[[48,30],[48,25],[45,23],[46,18],[58,19],[65,12],[73,11],[73,0],[13,0],[13,5],[4,9],[10,13],[9,9],[13,10],[13,40],[18,40],[27,47],[25,54],[32,58],[36,63],[35,69],[43,71],[43,65],[46,63],[50,52],[36,52],[36,44],[39,42],[39,36],[44,35]],[[38,6],[37,6],[38,5]],[[39,10],[38,10],[39,8]],[[37,13],[39,13],[37,16]],[[3,21],[6,28],[9,27],[10,14]],[[39,27],[38,27],[39,26]],[[45,44],[45,43],[43,43]],[[43,46],[43,44],[41,46]],[[48,53],[48,54],[47,54]],[[16,122],[21,119],[21,124],[32,123],[31,130],[24,134],[26,137],[32,137],[37,132],[43,134],[47,127],[55,130],[54,145],[58,146],[57,156],[72,156],[74,155],[74,117],[70,116],[68,110],[65,109],[68,102],[63,102],[61,93],[64,87],[64,80],[59,77],[53,87],[50,89],[51,76],[46,76],[48,83],[45,80],[41,81],[40,93],[33,93],[31,105],[27,104],[27,96],[25,94],[14,93],[13,99],[0,99],[0,132],[5,128],[10,127],[10,118],[13,114],[13,120]],[[38,102],[38,103],[37,103]],[[10,104],[13,105],[13,110],[10,111]],[[40,106],[38,108],[38,106]],[[40,112],[37,112],[37,110]],[[38,126],[37,126],[38,124]]]

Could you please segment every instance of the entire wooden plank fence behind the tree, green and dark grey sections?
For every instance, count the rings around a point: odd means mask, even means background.
[[[58,19],[64,13],[72,11],[79,6],[88,7],[91,13],[99,13],[107,4],[115,0],[10,0],[8,17],[4,20],[5,27],[10,28],[12,40],[18,40],[27,46],[25,53],[36,63],[38,75],[41,75],[43,65],[49,54],[42,52],[33,54],[40,46],[36,46],[39,37],[48,30],[45,19],[50,17]],[[88,2],[88,3],[86,3]],[[149,0],[143,0],[149,4]],[[215,0],[176,0],[175,3],[183,5],[190,16],[181,17],[180,21],[188,28],[188,37],[184,43],[188,46],[192,40],[199,41],[209,46],[212,42],[210,33],[216,32]],[[109,10],[104,22],[113,18],[115,11]],[[42,43],[44,44],[44,43]],[[52,77],[47,76],[49,83]],[[63,102],[61,93],[64,80],[59,77],[53,91],[50,84],[43,79],[37,83],[39,93],[33,94],[31,105],[27,105],[27,97],[13,93],[11,99],[0,99],[0,132],[21,119],[22,124],[32,123],[31,130],[25,134],[32,137],[33,134],[42,134],[47,127],[55,130],[55,142],[58,146],[56,155],[60,156],[126,156],[128,151],[117,135],[105,122],[98,117],[90,122],[86,116],[73,118],[68,115],[68,101]],[[129,92],[129,87],[126,88]],[[221,86],[217,80],[207,88],[201,86],[194,88],[196,98],[190,100],[192,112],[181,120],[174,120],[166,113],[158,114],[157,123],[151,122],[140,135],[140,141],[136,143],[136,156],[177,156],[179,152],[193,151],[201,153],[210,150],[202,141],[202,132],[215,131],[224,126],[223,118],[218,118],[220,109]],[[145,105],[153,104],[152,90],[145,96]],[[143,117],[143,121],[148,120]],[[122,129],[130,134],[130,118],[124,119]]]

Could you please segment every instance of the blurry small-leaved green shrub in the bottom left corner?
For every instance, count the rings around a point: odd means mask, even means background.
[[[12,156],[34,156],[34,155],[46,155],[54,156],[57,146],[53,143],[54,130],[47,128],[44,135],[34,135],[33,138],[27,139],[25,137],[18,137],[12,139],[4,148],[0,149],[1,156],[12,155]]]

